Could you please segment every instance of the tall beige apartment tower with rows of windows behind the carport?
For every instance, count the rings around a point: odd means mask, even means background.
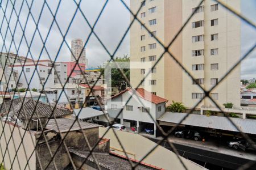
[[[240,11],[240,0],[222,2]],[[150,61],[154,65],[164,48],[152,35],[168,45],[199,3],[200,0],[130,1],[134,13],[142,5],[138,18],[150,29],[148,32],[139,22],[132,25],[130,61]],[[196,78],[196,82],[209,90],[240,59],[240,32],[240,19],[215,1],[205,0],[169,50]],[[131,69],[132,86],[137,86],[147,71]],[[203,91],[167,53],[151,71],[151,80],[144,84],[150,85],[154,94],[168,99],[168,104],[174,100],[192,108],[204,96]],[[210,96],[220,105],[233,103],[234,107],[240,107],[240,66],[218,84]],[[201,106],[215,105],[205,99],[197,108]]]

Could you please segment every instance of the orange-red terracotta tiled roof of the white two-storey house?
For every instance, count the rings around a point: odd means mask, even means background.
[[[119,94],[112,96],[111,98],[117,97],[119,95],[122,95],[126,91],[130,91],[131,93],[133,92],[131,88],[127,88],[126,90],[119,92]],[[144,90],[144,88],[137,88],[136,94],[141,97],[144,100],[151,101],[152,103],[159,104],[159,103],[164,103],[167,102],[167,99],[164,99],[162,97],[156,96],[152,94],[149,91]]]

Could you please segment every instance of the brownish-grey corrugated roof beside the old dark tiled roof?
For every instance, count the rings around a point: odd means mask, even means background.
[[[69,130],[69,128],[71,127],[71,125],[73,124],[75,120],[71,120],[69,118],[56,118],[56,122],[54,119],[50,119],[46,129],[49,130],[54,130],[56,132],[59,132],[59,130],[57,129],[57,125],[59,126],[60,132],[64,133],[67,132]],[[77,121],[75,122],[75,124],[72,126],[70,131],[76,131],[76,130],[81,130],[81,129],[90,129],[90,128],[97,128],[101,125],[97,125],[97,124],[90,124],[87,122],[79,122],[81,125],[81,128],[79,126],[79,124],[77,123]]]

